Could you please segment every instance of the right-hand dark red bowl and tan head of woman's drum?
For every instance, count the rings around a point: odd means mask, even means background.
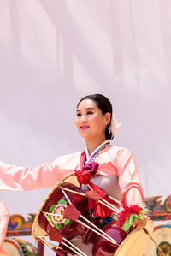
[[[150,220],[147,221],[145,229],[150,235],[152,234],[153,223]],[[132,230],[126,234],[117,222],[109,223],[104,230],[106,234],[115,238],[119,246],[114,246],[100,237],[92,248],[94,256],[142,256],[150,242],[150,237],[145,234],[144,230],[138,233]]]

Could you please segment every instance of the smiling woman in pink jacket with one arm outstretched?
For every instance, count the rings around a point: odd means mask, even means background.
[[[109,143],[114,137],[109,99],[101,94],[86,96],[80,100],[76,112],[75,123],[85,139],[85,152],[62,156],[34,169],[0,162],[0,188],[21,191],[53,187],[62,177],[80,170],[80,162],[83,166],[96,162],[91,182],[129,205],[143,204],[143,189],[132,153]],[[143,229],[145,223],[146,217],[137,218],[133,223],[135,231]]]

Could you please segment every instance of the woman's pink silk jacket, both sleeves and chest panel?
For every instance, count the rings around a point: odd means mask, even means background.
[[[66,155],[40,167],[23,168],[0,162],[0,189],[22,191],[50,188],[62,177],[80,168],[80,154]],[[132,153],[120,146],[105,148],[96,158],[97,175],[118,176],[121,198],[127,203],[143,203],[144,195]]]

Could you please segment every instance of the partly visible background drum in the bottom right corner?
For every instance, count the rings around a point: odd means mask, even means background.
[[[157,225],[155,227],[155,231],[152,235],[158,246],[162,249],[162,252],[166,256],[171,256],[171,223],[164,223],[161,225]],[[159,252],[158,248],[150,242],[147,247],[144,256],[161,256],[162,254]]]

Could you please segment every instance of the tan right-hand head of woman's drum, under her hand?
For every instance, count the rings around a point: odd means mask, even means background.
[[[150,235],[153,232],[154,225],[151,220],[147,221],[145,229],[148,230]],[[142,256],[148,247],[150,242],[149,235],[144,233],[144,230],[141,230],[137,233],[132,231],[127,235],[126,239],[121,243],[121,246],[117,249],[115,256]],[[149,254],[155,255],[155,254]]]

